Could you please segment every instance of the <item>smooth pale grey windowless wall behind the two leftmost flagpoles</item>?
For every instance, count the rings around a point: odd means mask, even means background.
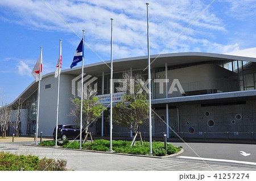
[[[72,75],[60,75],[60,95],[59,95],[59,121],[58,124],[74,123],[74,118],[69,116],[72,107],[71,81],[75,78]],[[43,136],[52,136],[56,127],[57,113],[57,81],[53,75],[42,79],[40,87],[39,104],[39,129]],[[51,85],[48,89],[46,86]]]

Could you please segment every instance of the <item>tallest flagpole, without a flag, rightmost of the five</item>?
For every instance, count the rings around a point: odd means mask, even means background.
[[[148,90],[149,90],[149,96],[148,96],[148,103],[149,103],[149,134],[150,134],[150,153],[152,153],[152,123],[151,123],[151,75],[150,75],[150,37],[149,37],[149,18],[148,18],[148,5],[149,3],[146,3],[147,5],[147,53],[148,53]]]

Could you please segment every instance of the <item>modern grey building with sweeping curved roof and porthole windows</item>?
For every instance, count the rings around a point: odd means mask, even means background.
[[[110,61],[84,67],[84,87],[93,85],[108,105]],[[146,69],[146,70],[144,70]],[[216,53],[170,53],[151,56],[152,136],[250,139],[256,132],[256,58],[249,54],[235,56]],[[113,78],[124,72],[141,74],[147,79],[147,56],[114,60]],[[114,84],[114,88],[118,87]],[[81,66],[62,70],[60,75],[59,124],[73,123],[69,116],[71,99],[79,96]],[[26,99],[22,134],[34,134],[38,83],[32,82],[20,97]],[[43,76],[40,88],[39,132],[52,136],[56,125],[57,78],[54,73]],[[114,89],[114,102],[122,93]],[[15,103],[15,101],[14,101]],[[13,104],[13,103],[12,103]],[[89,131],[108,135],[108,111]],[[148,124],[139,131],[148,136]],[[113,126],[113,134],[128,136],[129,130]]]

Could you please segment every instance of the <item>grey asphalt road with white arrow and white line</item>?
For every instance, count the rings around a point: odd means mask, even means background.
[[[256,170],[256,145],[218,143],[172,143],[183,146],[184,153],[168,159],[218,163],[254,167]],[[241,154],[242,153],[242,154]],[[204,159],[204,161],[202,161]]]

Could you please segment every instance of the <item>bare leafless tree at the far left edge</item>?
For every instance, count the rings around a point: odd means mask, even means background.
[[[10,120],[11,107],[3,106],[0,108],[0,125],[2,137],[6,137],[6,131],[8,129],[8,123]]]

